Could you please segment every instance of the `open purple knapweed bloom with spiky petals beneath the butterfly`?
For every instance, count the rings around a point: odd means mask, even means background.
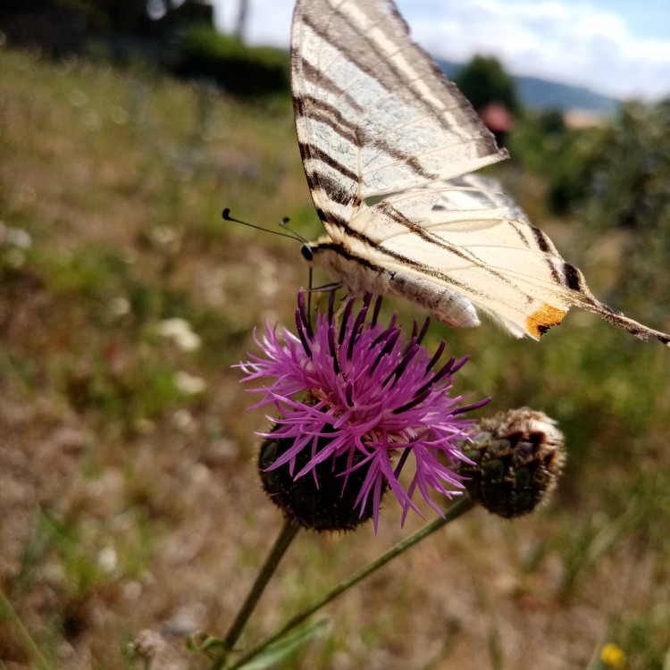
[[[464,405],[465,398],[449,395],[467,358],[440,364],[444,341],[431,356],[421,344],[429,320],[408,338],[395,314],[388,326],[378,321],[381,298],[371,310],[372,297],[365,297],[358,311],[350,298],[339,314],[334,301],[331,293],[327,314],[317,314],[313,328],[300,291],[297,336],[266,324],[264,337],[255,336],[264,357],[249,355],[239,364],[247,373],[243,381],[263,384],[251,389],[263,394],[252,408],[272,406],[278,414],[269,417],[272,432],[258,433],[277,456],[272,465],[263,464],[265,471],[288,468],[294,482],[310,477],[316,487],[324,477],[337,478],[341,491],[364,473],[356,480],[352,512],[363,516],[372,503],[375,530],[386,487],[404,507],[403,521],[409,509],[421,514],[412,499],[417,490],[441,515],[431,490],[451,497],[459,491],[448,486],[463,488],[455,472],[463,458],[459,442],[469,439],[473,423],[464,414],[488,398]],[[399,477],[411,460],[414,476],[405,489]]]

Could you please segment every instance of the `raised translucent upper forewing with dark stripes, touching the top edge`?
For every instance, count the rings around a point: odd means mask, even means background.
[[[292,82],[307,178],[327,224],[365,197],[506,156],[388,2],[298,2]]]

